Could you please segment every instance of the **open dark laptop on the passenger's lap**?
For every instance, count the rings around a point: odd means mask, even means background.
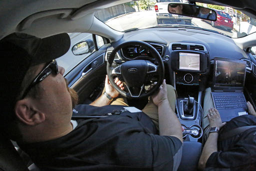
[[[243,87],[246,62],[243,60],[215,57],[211,96],[222,122],[247,114]]]

